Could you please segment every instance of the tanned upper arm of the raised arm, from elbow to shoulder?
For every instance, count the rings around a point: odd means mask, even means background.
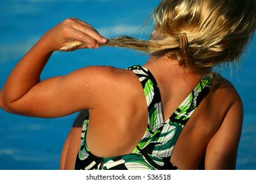
[[[43,80],[10,104],[7,110],[26,116],[54,118],[93,108],[110,83],[108,69],[85,67],[66,76]]]

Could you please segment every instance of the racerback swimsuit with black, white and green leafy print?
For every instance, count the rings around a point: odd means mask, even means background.
[[[86,144],[89,115],[83,123],[81,145],[74,169],[178,169],[171,162],[171,154],[184,125],[192,116],[211,87],[211,79],[203,78],[171,117],[164,122],[161,97],[154,76],[146,67],[129,67],[139,78],[148,105],[148,126],[144,137],[130,154],[111,158],[94,156]]]

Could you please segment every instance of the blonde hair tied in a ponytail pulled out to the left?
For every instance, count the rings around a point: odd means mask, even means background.
[[[152,39],[123,36],[102,46],[164,54],[198,73],[209,73],[219,63],[240,58],[252,41],[255,9],[255,0],[163,0],[150,16],[155,25]]]

